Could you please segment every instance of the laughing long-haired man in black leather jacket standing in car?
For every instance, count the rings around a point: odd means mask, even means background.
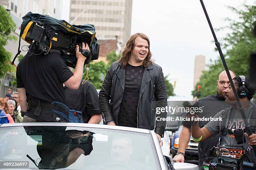
[[[150,42],[143,33],[132,35],[120,60],[110,66],[99,101],[107,125],[155,129],[161,140],[165,121],[156,120],[156,106],[167,104],[164,75],[151,60]],[[158,115],[166,117],[166,113]]]

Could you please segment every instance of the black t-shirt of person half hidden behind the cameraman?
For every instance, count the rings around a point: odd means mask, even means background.
[[[70,90],[64,86],[67,106],[70,109],[82,111],[83,121],[87,123],[91,116],[100,113],[100,104],[97,90],[90,82],[80,84],[77,90]]]

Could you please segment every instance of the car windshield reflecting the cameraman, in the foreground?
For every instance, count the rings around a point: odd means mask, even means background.
[[[0,161],[26,161],[22,168],[157,170],[160,167],[153,139],[146,133],[18,126],[1,127],[0,136]]]

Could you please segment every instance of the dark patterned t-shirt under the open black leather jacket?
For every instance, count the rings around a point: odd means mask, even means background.
[[[144,68],[126,65],[125,90],[118,114],[118,125],[137,128],[137,107]]]

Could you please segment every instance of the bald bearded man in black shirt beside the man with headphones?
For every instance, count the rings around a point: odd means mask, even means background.
[[[229,70],[232,79],[236,77],[236,74]],[[215,114],[220,112],[221,110],[230,107],[227,103],[225,103],[225,90],[229,86],[228,75],[226,71],[220,72],[217,80],[217,93],[214,95],[208,95],[207,97],[203,97],[199,99],[193,106],[199,107],[203,106],[203,110],[201,113],[197,114],[199,117],[214,117]],[[200,121],[200,128],[204,127],[209,121]],[[173,158],[174,162],[184,162],[184,155],[187,148],[187,144],[190,139],[190,128],[191,124],[189,121],[183,122],[182,131],[179,135],[179,148],[177,151],[177,155]],[[204,162],[204,156],[208,153],[209,148],[216,146],[218,144],[219,135],[213,136],[200,142],[198,144],[198,156],[199,156],[199,168],[202,169],[202,163]]]

